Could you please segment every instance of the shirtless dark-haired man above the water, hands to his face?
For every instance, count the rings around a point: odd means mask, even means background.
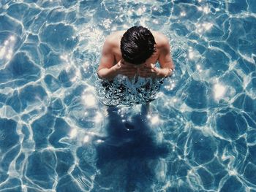
[[[160,68],[155,66],[157,61]],[[97,74],[105,80],[113,80],[118,74],[129,78],[167,77],[173,69],[168,39],[157,31],[134,26],[106,38]]]

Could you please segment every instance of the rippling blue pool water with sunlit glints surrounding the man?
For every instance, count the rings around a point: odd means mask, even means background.
[[[176,65],[148,112],[97,96],[135,25]],[[256,191],[255,62],[255,0],[0,0],[0,191]]]

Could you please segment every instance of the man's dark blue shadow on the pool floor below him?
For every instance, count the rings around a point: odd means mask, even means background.
[[[115,107],[108,108],[108,137],[96,147],[98,185],[124,191],[150,188],[157,162],[169,153],[169,147],[157,143],[146,115],[142,107],[141,113],[128,122]]]

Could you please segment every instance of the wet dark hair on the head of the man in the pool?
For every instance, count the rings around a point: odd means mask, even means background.
[[[121,55],[130,64],[143,64],[156,51],[153,34],[143,26],[129,28],[121,38]]]

